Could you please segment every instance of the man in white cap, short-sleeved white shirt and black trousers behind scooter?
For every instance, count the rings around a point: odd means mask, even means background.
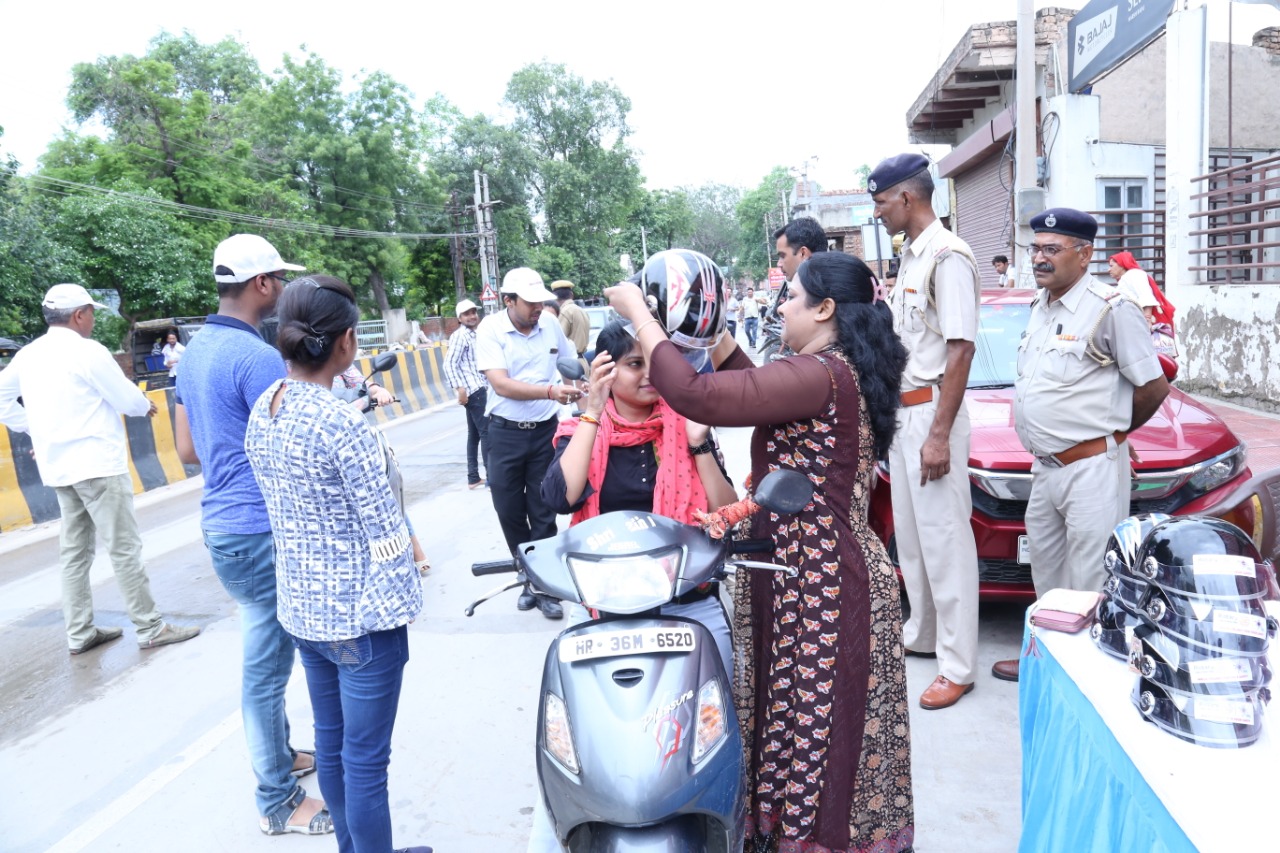
[[[500,292],[503,310],[486,316],[476,333],[476,366],[493,389],[485,410],[489,493],[515,553],[521,543],[556,535],[556,511],[543,502],[541,483],[556,455],[559,406],[582,392],[561,383],[557,360],[575,359],[577,351],[561,324],[543,314],[543,302],[556,298],[543,277],[517,266],[503,277]],[[527,587],[516,606],[538,607],[547,619],[563,616],[554,598]]]

